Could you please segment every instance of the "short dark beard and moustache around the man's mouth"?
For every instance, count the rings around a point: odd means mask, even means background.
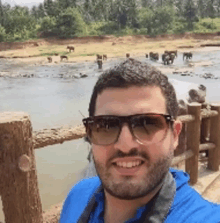
[[[137,150],[132,151],[134,154],[148,158],[147,154],[141,154]],[[120,154],[120,152],[118,153]],[[129,156],[130,155],[124,155]],[[115,156],[122,157],[122,155]],[[114,157],[114,158],[115,158]],[[160,157],[156,162],[146,165],[144,162],[141,168],[145,168],[142,178],[135,179],[134,176],[122,176],[116,179],[114,175],[108,171],[105,164],[95,160],[95,167],[99,178],[102,181],[103,188],[112,196],[122,200],[133,200],[146,196],[159,186],[165,178],[173,159],[173,149],[170,148],[169,153]],[[113,165],[113,164],[111,164]],[[145,165],[145,166],[143,166]]]

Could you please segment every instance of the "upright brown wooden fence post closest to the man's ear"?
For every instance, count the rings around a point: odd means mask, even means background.
[[[195,116],[194,121],[187,123],[187,150],[191,150],[194,155],[186,160],[186,172],[190,175],[190,184],[193,185],[198,179],[201,104],[189,104],[188,113]]]

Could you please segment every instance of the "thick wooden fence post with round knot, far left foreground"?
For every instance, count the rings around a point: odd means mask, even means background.
[[[42,223],[32,126],[24,112],[0,115],[0,193],[6,223]]]

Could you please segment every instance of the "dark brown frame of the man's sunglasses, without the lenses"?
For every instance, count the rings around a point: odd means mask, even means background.
[[[124,123],[127,123],[128,124],[128,126],[129,126],[129,129],[130,129],[130,132],[131,132],[131,134],[134,136],[134,138],[136,139],[136,140],[138,140],[138,142],[139,143],[141,143],[141,144],[143,144],[142,142],[141,142],[141,140],[139,139],[139,138],[137,138],[136,136],[135,136],[135,134],[134,134],[134,132],[133,132],[133,129],[132,129],[132,126],[131,126],[131,122],[130,122],[130,120],[131,120],[131,118],[132,117],[136,117],[136,116],[150,116],[150,115],[158,115],[158,116],[162,116],[162,117],[164,117],[165,118],[165,120],[166,120],[166,123],[167,124],[171,124],[171,126],[172,126],[172,124],[174,123],[174,121],[175,121],[175,119],[171,116],[171,115],[168,115],[168,114],[161,114],[161,113],[144,113],[144,114],[135,114],[135,115],[128,115],[128,116],[118,116],[118,115],[98,115],[98,116],[91,116],[91,117],[88,117],[88,118],[84,118],[82,121],[83,121],[83,124],[84,124],[84,126],[86,127],[86,133],[87,133],[87,138],[89,139],[89,141],[91,142],[92,140],[91,140],[91,138],[89,137],[89,135],[88,135],[88,126],[89,126],[89,124],[90,123],[94,123],[95,122],[95,120],[96,119],[100,119],[100,118],[106,118],[106,117],[116,117],[117,119],[119,119],[119,121],[120,121],[120,125],[119,125],[119,128],[120,128],[120,131],[119,131],[119,133],[118,133],[118,136],[116,137],[116,139],[115,139],[115,141],[114,142],[112,142],[112,143],[110,143],[110,144],[97,144],[97,143],[94,143],[94,142],[92,142],[93,144],[95,144],[95,145],[111,145],[111,144],[114,144],[114,143],[116,143],[117,142],[117,140],[118,140],[118,137],[120,136],[120,133],[121,133],[121,129],[122,129],[122,125],[124,124]],[[166,134],[165,134],[165,136],[166,136]],[[162,139],[163,140],[163,139]],[[162,141],[161,140],[161,141]]]

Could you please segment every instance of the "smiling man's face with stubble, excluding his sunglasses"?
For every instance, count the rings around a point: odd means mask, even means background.
[[[98,95],[95,115],[129,116],[144,113],[167,114],[159,87],[111,88]],[[154,144],[141,144],[123,124],[118,141],[92,144],[96,171],[106,192],[120,199],[143,197],[156,188],[170,167],[178,144],[180,123],[169,128],[166,137]]]

